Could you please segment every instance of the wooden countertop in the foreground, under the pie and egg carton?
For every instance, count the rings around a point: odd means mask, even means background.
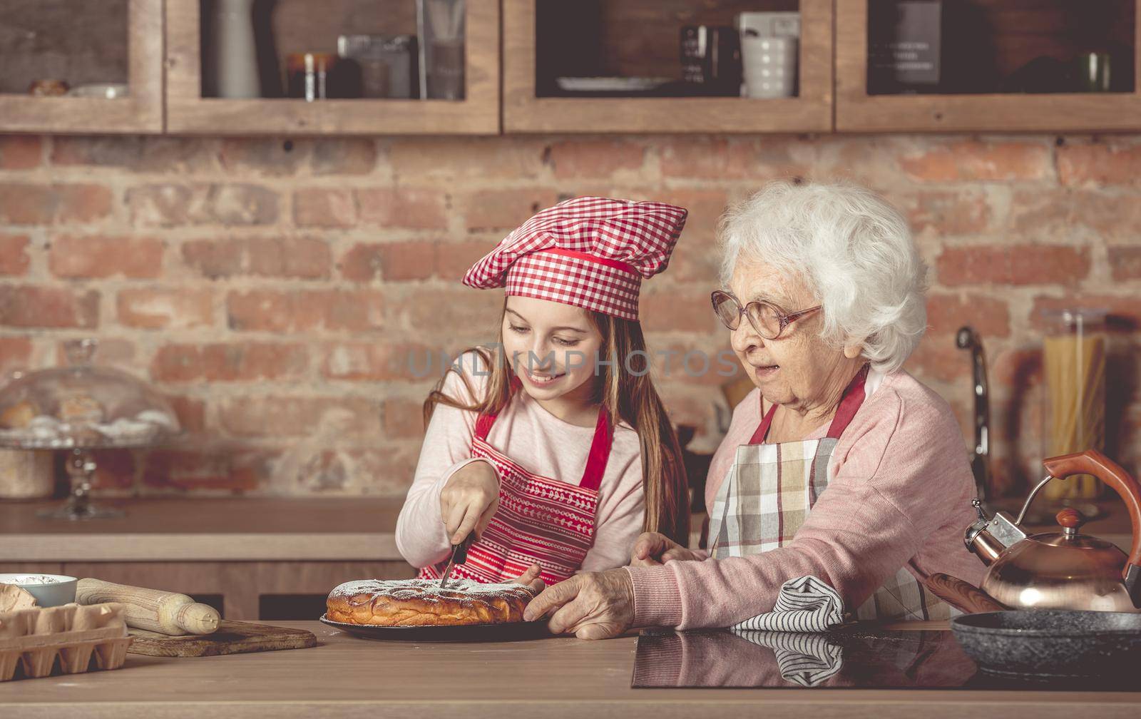
[[[317,622],[278,622],[321,646],[171,659],[128,654],[111,672],[0,684],[5,717],[624,717],[924,719],[1136,717],[1141,693],[926,689],[631,689],[636,637],[511,644],[356,639]],[[945,628],[934,622],[896,629]],[[776,712],[776,713],[774,713]]]

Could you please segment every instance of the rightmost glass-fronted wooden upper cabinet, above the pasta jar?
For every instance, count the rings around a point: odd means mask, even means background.
[[[868,94],[868,6],[875,0],[835,0],[836,22],[836,121],[837,132],[908,131],[1045,131],[1139,130],[1141,129],[1141,24],[1136,22],[1134,0],[1104,0],[1097,10],[1110,13],[1107,25],[1132,43],[1132,57],[1111,67],[1132,79],[1128,91],[1116,92],[955,92],[915,95]],[[1000,35],[1005,48],[990,51],[997,56],[1002,74],[1017,64],[1042,56],[1066,45],[1063,35],[1073,13],[1092,13],[1093,7],[1066,0],[979,0],[971,3],[978,13],[973,27],[945,32],[944,42],[957,39],[966,52],[986,52],[980,33]],[[1069,5],[1070,7],[1065,7]],[[948,2],[944,2],[947,8]],[[963,37],[968,33],[969,38]],[[979,42],[971,48],[970,43]],[[1066,48],[1073,51],[1073,48]],[[1021,52],[1021,56],[1018,54]],[[1065,52],[1063,52],[1065,54]],[[953,60],[954,62],[954,60]],[[1132,63],[1132,67],[1127,65]],[[948,68],[944,55],[944,71]],[[1004,65],[1004,66],[1003,66]],[[1118,64],[1115,64],[1118,65]],[[953,70],[953,68],[952,68]],[[985,74],[980,72],[979,74]],[[1000,73],[995,73],[996,76]]]

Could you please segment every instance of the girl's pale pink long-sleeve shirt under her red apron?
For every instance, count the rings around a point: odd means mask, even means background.
[[[474,371],[477,366],[479,372]],[[475,396],[483,398],[487,391],[483,361],[468,353],[460,357],[459,367]],[[448,372],[445,394],[470,404],[472,391],[458,373]],[[428,423],[416,474],[396,520],[396,547],[414,567],[438,564],[452,550],[440,517],[439,493],[458,469],[480,461],[471,459],[476,417],[475,412],[442,404]],[[515,394],[487,435],[487,442],[517,464],[576,486],[582,482],[593,438],[593,427],[560,420],[524,390]],[[641,443],[632,427],[620,422],[614,427],[610,457],[599,486],[594,544],[586,552],[582,569],[613,569],[630,562],[631,547],[642,530],[645,509]]]

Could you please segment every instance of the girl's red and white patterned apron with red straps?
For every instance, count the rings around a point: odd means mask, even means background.
[[[594,543],[594,510],[610,457],[609,417],[599,410],[594,438],[578,486],[532,474],[487,442],[494,414],[476,420],[471,457],[486,458],[500,477],[499,509],[484,535],[468,549],[467,564],[452,568],[452,576],[476,582],[513,580],[532,564],[542,567],[547,585],[569,579],[582,567]],[[420,569],[420,579],[439,579],[447,562]]]

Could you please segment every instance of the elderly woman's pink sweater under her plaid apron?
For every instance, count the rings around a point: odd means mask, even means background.
[[[950,407],[904,371],[869,391],[828,462],[828,488],[792,542],[750,557],[626,567],[634,625],[728,627],[770,611],[780,584],[804,574],[840,590],[849,611],[905,565],[920,580],[944,572],[978,585],[985,567],[963,546],[974,480]],[[754,389],[713,455],[706,506],[760,420]]]

